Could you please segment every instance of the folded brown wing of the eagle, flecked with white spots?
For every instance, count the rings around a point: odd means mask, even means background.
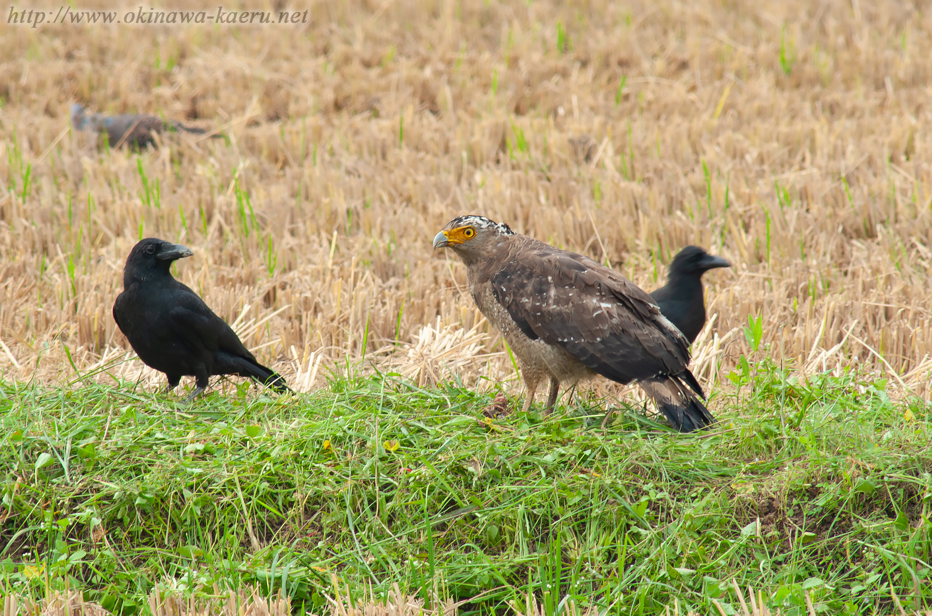
[[[676,375],[689,363],[685,338],[650,295],[581,254],[528,247],[490,282],[525,335],[613,381]]]

